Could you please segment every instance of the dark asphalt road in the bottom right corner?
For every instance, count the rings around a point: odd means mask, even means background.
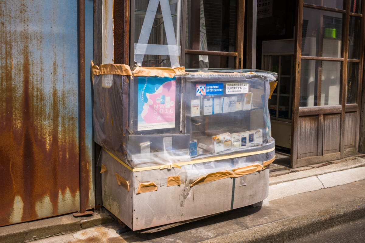
[[[364,243],[365,218],[348,224],[331,228],[305,238],[293,241],[295,243]],[[293,243],[292,242],[292,243]]]

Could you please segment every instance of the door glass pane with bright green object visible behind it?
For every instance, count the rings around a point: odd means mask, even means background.
[[[303,9],[301,55],[341,57],[342,13]]]

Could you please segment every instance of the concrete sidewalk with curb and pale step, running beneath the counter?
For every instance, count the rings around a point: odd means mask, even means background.
[[[124,232],[116,220],[105,224],[112,217],[104,212],[0,227],[0,242],[287,242],[365,217],[363,158],[270,172],[269,183],[261,208],[239,208],[152,234]],[[60,235],[72,231],[77,232]],[[39,239],[47,236],[52,237]]]

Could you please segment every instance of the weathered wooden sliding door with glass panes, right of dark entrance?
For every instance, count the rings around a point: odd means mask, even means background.
[[[293,168],[358,150],[363,14],[362,0],[299,0]]]

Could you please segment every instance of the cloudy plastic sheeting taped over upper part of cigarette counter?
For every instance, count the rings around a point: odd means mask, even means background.
[[[95,141],[143,172],[134,190],[167,181],[196,186],[260,172],[273,161],[267,104],[275,73],[137,68],[132,78],[114,71],[104,87],[102,76],[113,69],[103,70],[94,75]]]

